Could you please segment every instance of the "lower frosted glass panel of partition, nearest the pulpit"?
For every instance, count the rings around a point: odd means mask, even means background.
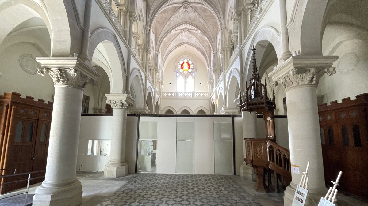
[[[215,141],[215,174],[233,174],[233,142]]]

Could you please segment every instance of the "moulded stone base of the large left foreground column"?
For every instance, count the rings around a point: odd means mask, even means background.
[[[77,179],[66,186],[43,181],[33,196],[34,206],[78,206],[81,204],[82,184]]]

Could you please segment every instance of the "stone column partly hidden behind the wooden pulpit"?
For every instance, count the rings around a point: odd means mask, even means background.
[[[257,138],[257,114],[255,112],[241,112],[243,116],[243,138]],[[244,158],[246,156],[247,147],[243,141],[243,152]],[[243,164],[240,166],[239,176],[245,180],[255,181],[255,173],[253,168],[249,165],[245,165],[244,159]]]

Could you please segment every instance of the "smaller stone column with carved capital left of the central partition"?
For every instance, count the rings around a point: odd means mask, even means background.
[[[105,166],[104,176],[110,178],[123,177],[128,174],[128,163],[125,162],[125,135],[127,126],[127,110],[133,99],[128,94],[106,94],[106,103],[113,108],[113,128],[111,135],[110,160]]]

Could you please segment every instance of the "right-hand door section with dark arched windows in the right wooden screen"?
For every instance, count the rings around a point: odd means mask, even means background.
[[[368,197],[368,139],[363,108],[353,107],[336,111],[337,133],[340,140],[339,168],[343,176],[339,188],[352,194]],[[337,176],[337,174],[336,174]]]

